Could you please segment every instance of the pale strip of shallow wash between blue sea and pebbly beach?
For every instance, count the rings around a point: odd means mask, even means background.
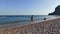
[[[21,22],[21,23],[11,23],[11,24],[3,24],[0,25],[0,30],[1,29],[9,29],[9,28],[15,28],[15,27],[22,27],[22,26],[26,26],[26,25],[30,25],[30,24],[36,24],[36,23],[41,23],[41,22],[46,22],[46,21],[50,21],[50,20],[55,20],[55,19],[59,19],[60,17],[57,18],[53,18],[53,19],[47,19],[47,20],[37,20],[34,21],[34,23],[30,22]]]

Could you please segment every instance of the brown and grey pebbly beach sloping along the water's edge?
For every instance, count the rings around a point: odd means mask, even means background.
[[[0,34],[60,34],[60,18],[36,22],[24,25],[11,24],[8,27],[0,25]]]

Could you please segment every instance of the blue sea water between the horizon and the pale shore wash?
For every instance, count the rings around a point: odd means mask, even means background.
[[[0,24],[22,23],[31,21],[32,15],[0,15]],[[56,15],[33,15],[34,21],[51,19],[58,17]]]

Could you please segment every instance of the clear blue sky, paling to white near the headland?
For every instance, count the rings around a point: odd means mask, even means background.
[[[60,0],[0,0],[0,15],[48,15]]]

